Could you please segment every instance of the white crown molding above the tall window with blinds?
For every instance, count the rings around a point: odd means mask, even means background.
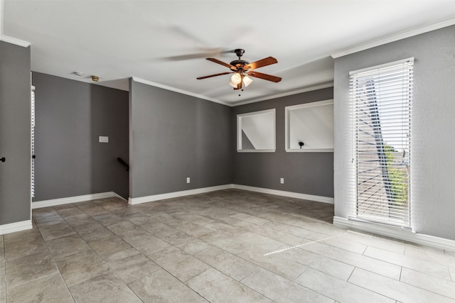
[[[391,35],[391,36],[386,37],[386,38],[374,40],[374,41],[371,41],[369,43],[365,43],[365,44],[362,44],[362,45],[355,46],[353,48],[348,48],[347,50],[341,50],[340,52],[331,54],[331,56],[333,57],[333,59],[336,59],[338,57],[343,57],[343,56],[350,55],[350,54],[353,54],[353,53],[358,53],[358,52],[360,52],[362,50],[368,50],[369,48],[375,48],[376,46],[380,46],[380,45],[384,45],[384,44],[387,44],[387,43],[395,42],[395,41],[402,40],[402,39],[405,39],[405,38],[410,38],[410,37],[412,37],[414,35],[420,35],[422,33],[428,33],[429,31],[436,31],[436,30],[438,30],[440,28],[445,28],[447,26],[453,26],[454,24],[455,24],[455,18],[451,18],[449,20],[441,21],[439,23],[434,23],[434,24],[429,25],[429,26],[424,26],[422,28],[416,28],[416,29],[414,29],[412,31],[405,31],[403,33],[399,33],[399,34],[396,34],[396,35]]]

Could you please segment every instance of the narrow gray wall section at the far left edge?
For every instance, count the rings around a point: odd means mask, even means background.
[[[30,47],[0,41],[0,225],[31,219]]]

